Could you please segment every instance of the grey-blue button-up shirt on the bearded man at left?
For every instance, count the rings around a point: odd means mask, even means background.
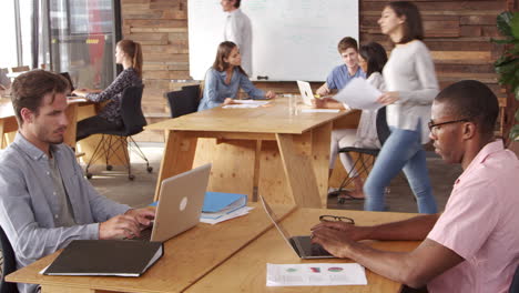
[[[130,209],[93,189],[69,146],[51,145],[51,152],[78,225],[58,228],[54,224],[60,206],[45,153],[20,133],[0,153],[0,225],[11,242],[18,267],[63,249],[72,240],[99,239],[99,222]],[[19,289],[32,292],[34,287],[22,284]]]

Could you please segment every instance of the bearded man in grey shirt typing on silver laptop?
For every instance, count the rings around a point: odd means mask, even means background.
[[[0,225],[19,269],[72,240],[140,235],[155,215],[100,195],[84,179],[74,152],[62,143],[68,92],[65,79],[43,70],[21,74],[12,84],[19,132],[0,154]]]

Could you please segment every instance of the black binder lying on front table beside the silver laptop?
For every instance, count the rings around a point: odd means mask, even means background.
[[[163,253],[161,242],[74,240],[43,274],[140,276]]]

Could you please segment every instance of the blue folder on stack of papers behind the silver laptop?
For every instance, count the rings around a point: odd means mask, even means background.
[[[236,193],[211,192],[205,193],[204,206],[200,221],[216,224],[248,213],[247,195]]]

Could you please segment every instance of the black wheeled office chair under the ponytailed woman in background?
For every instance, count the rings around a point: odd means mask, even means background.
[[[121,115],[123,120],[123,127],[120,130],[115,131],[103,131],[101,134],[101,141],[98,143],[92,158],[90,159],[86,165],[86,178],[91,179],[92,173],[89,172],[90,165],[95,162],[95,160],[104,155],[106,162],[106,170],[111,171],[112,165],[109,164],[109,159],[111,155],[114,155],[125,163],[128,168],[128,179],[133,180],[135,176],[132,174],[132,168],[130,163],[130,153],[126,145],[130,148],[130,151],[134,151],[139,156],[141,156],[146,162],[146,171],[151,173],[153,168],[150,166],[150,161],[147,161],[144,153],[141,151],[141,148],[132,139],[132,135],[142,132],[143,127],[145,127],[146,119],[142,113],[141,100],[142,100],[142,90],[143,87],[129,87],[124,89],[121,99]],[[118,153],[118,150],[122,148],[124,152],[124,158],[121,158]]]

